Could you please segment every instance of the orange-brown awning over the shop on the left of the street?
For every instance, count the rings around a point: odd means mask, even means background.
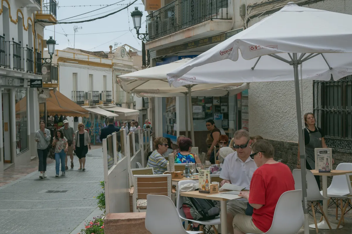
[[[46,99],[46,111],[49,115],[89,117],[88,110],[77,105],[59,91],[54,94],[54,90],[50,90],[50,97]]]

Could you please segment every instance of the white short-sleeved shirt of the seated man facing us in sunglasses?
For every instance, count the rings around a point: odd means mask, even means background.
[[[246,162],[243,162],[237,156],[237,152],[226,156],[222,164],[220,178],[231,181],[231,184],[238,185],[249,189],[251,178],[257,165],[251,157],[248,156]]]

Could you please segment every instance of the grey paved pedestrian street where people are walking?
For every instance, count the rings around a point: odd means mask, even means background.
[[[19,179],[0,187],[0,233],[71,233],[96,209],[94,196],[101,191],[99,182],[104,177],[101,148],[89,151],[86,160],[86,171],[77,170],[75,156],[74,169],[69,168],[65,176],[60,172],[59,177],[51,163],[44,179],[39,178],[38,162],[14,167],[14,173],[6,170],[0,179]]]

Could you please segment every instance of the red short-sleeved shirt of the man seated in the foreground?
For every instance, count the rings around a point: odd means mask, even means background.
[[[263,205],[253,209],[252,215],[254,225],[262,232],[268,232],[277,201],[290,190],[295,190],[295,182],[291,170],[283,163],[264,164],[253,173],[248,202]]]

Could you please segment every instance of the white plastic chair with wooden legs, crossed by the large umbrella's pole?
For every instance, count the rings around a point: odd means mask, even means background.
[[[294,169],[292,171],[292,174],[293,174],[293,178],[295,180],[295,189],[302,189],[301,169]],[[331,229],[329,220],[327,219],[327,217],[323,211],[323,208],[321,207],[321,205],[319,203],[320,200],[328,200],[329,198],[323,197],[323,195],[320,194],[319,187],[318,187],[318,184],[316,183],[316,180],[314,178],[313,173],[307,169],[306,169],[306,181],[307,181],[307,201],[311,202],[316,232],[318,233],[318,224],[316,222],[315,208],[314,208],[313,202],[317,203],[321,214],[324,216],[326,223],[328,224],[329,228]]]

